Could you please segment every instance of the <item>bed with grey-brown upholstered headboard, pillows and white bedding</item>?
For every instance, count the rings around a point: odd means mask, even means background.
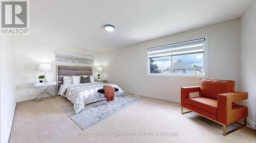
[[[78,82],[81,75],[90,76],[91,83]],[[58,95],[66,97],[73,103],[75,113],[84,109],[84,105],[101,101],[104,95],[97,91],[102,89],[103,85],[117,88],[115,96],[121,96],[124,93],[116,84],[95,82],[92,67],[57,65],[57,81]]]

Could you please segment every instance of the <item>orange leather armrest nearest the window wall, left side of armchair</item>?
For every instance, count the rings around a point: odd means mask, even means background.
[[[189,98],[189,93],[199,92],[200,86],[195,87],[181,87],[181,106],[184,106],[185,98]]]

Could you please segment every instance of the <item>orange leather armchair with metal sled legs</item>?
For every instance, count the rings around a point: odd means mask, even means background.
[[[248,98],[247,92],[234,91],[233,80],[200,79],[200,86],[181,88],[181,113],[196,112],[223,125],[223,135],[246,126],[248,107],[235,102]],[[189,97],[189,93],[199,92],[199,96]],[[183,108],[189,111],[183,112]],[[226,133],[226,125],[244,118],[242,126]]]

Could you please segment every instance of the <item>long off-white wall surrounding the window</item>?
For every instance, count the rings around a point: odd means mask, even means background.
[[[240,19],[105,52],[102,60],[105,76],[126,92],[180,102],[180,87],[199,85],[199,78],[146,76],[147,48],[205,35],[208,35],[208,77],[236,80],[238,88]]]

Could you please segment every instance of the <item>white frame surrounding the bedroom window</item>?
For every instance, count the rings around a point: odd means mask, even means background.
[[[203,54],[203,68],[204,68],[204,74],[184,74],[184,73],[150,73],[150,65],[149,65],[149,59],[148,59],[148,50],[146,48],[146,65],[147,65],[147,71],[146,71],[146,76],[152,76],[152,77],[183,77],[183,78],[208,78],[208,36],[202,36],[202,37],[197,37],[197,38],[191,38],[191,39],[186,39],[186,40],[181,40],[173,43],[178,43],[178,42],[184,42],[184,41],[190,41],[190,40],[195,40],[195,39],[200,39],[204,38],[204,54]],[[173,66],[173,60],[171,66]]]

